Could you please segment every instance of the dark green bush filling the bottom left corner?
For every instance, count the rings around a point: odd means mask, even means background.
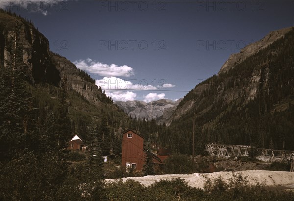
[[[66,175],[57,156],[26,153],[0,162],[0,200],[54,200]]]

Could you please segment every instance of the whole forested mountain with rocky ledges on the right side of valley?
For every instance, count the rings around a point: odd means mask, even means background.
[[[293,44],[293,27],[270,32],[186,94],[166,122],[174,149],[190,146],[194,118],[196,143],[293,150]]]

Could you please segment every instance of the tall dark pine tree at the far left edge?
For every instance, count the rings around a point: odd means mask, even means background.
[[[22,47],[18,42],[19,23],[16,21],[7,50],[12,53],[0,67],[0,155],[8,159],[29,147],[34,130],[32,95],[26,89],[22,72]]]

